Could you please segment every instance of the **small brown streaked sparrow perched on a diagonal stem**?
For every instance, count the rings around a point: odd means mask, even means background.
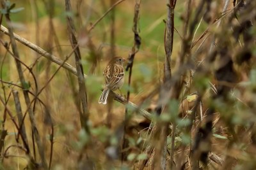
[[[100,95],[99,104],[107,104],[110,90],[120,90],[122,85],[124,85],[124,62],[125,59],[122,57],[113,57],[113,59],[108,62],[108,65],[103,72],[105,78],[105,88]]]

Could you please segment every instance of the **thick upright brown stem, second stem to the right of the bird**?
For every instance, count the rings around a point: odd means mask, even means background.
[[[165,50],[165,62],[164,62],[164,77],[163,77],[163,85],[161,85],[161,89],[159,92],[159,101],[157,103],[156,112],[157,115],[160,115],[163,111],[164,106],[166,105],[165,100],[163,100],[164,96],[166,96],[166,92],[170,90],[170,80],[172,78],[171,72],[171,56],[173,49],[173,31],[174,31],[174,8],[176,1],[168,0],[167,1],[167,19],[166,19],[166,29],[164,32],[164,50]],[[170,113],[171,114],[171,113]],[[156,150],[154,157],[154,168],[155,169],[166,169],[166,150],[167,150],[167,129],[168,122],[158,122],[156,125],[156,132],[161,132],[161,138],[156,139]],[[175,125],[173,126],[175,128]],[[173,129],[174,130],[174,129]],[[175,136],[175,131],[172,131],[172,135]],[[173,148],[172,148],[173,149]],[[173,152],[174,153],[174,152]],[[171,155],[171,162],[173,162],[173,156]],[[172,164],[172,163],[171,163]]]

